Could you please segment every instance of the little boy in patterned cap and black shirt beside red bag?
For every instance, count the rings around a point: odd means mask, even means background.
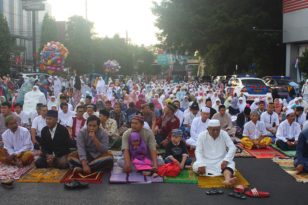
[[[166,159],[165,164],[170,162],[177,162],[177,166],[180,170],[193,169],[192,160],[188,157],[188,151],[186,144],[182,140],[183,131],[180,129],[173,129],[171,140],[166,145]]]

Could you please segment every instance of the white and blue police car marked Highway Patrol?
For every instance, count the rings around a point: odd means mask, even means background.
[[[230,92],[232,97],[239,97],[243,93],[247,96],[246,101],[254,101],[256,98],[261,100],[271,94],[272,89],[256,77],[256,75],[237,75],[224,92]]]

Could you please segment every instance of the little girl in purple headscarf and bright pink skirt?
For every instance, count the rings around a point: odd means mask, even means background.
[[[143,175],[152,175],[152,178],[158,176],[151,167],[151,160],[147,156],[147,146],[138,132],[132,132],[129,135],[129,155],[131,156],[132,164],[137,172]]]

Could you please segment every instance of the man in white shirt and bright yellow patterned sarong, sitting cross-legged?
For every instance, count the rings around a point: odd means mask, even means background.
[[[272,142],[272,139],[270,137],[265,137],[265,124],[258,120],[259,114],[256,110],[250,111],[250,119],[251,120],[244,125],[241,144],[247,149],[267,148]]]

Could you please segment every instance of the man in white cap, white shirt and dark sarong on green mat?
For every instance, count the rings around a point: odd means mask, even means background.
[[[276,133],[276,146],[283,151],[296,150],[298,135],[302,131],[301,126],[295,122],[293,109],[286,111],[287,120],[280,123]]]

